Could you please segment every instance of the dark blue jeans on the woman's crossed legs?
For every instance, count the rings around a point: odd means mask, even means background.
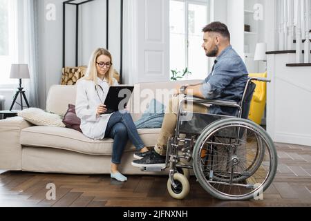
[[[113,138],[113,154],[111,157],[113,164],[120,164],[128,140],[131,140],[138,151],[144,148],[144,143],[138,135],[133,119],[127,112],[123,113],[122,111],[120,113],[120,111],[117,111],[111,115],[106,127],[105,137]]]

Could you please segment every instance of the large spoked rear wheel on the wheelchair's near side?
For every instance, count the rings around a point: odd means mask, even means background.
[[[270,136],[248,119],[220,119],[205,128],[194,146],[200,185],[223,200],[256,198],[270,186],[277,155]]]

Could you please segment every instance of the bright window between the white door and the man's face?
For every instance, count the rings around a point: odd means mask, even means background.
[[[208,59],[202,49],[202,28],[207,25],[208,0],[170,1],[170,68],[191,75],[183,79],[204,79]],[[187,22],[186,22],[187,21]]]

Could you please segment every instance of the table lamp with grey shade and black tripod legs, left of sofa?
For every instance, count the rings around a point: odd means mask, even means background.
[[[28,79],[30,78],[29,75],[29,69],[28,64],[12,64],[11,66],[11,73],[10,78],[19,79],[19,88],[17,88],[17,92],[15,93],[13,102],[10,107],[10,111],[12,111],[12,108],[16,102],[17,97],[21,97],[21,110],[23,110],[23,99],[25,99],[26,105],[29,108],[28,100],[25,95],[25,91],[23,91],[23,88],[21,87],[21,79]]]

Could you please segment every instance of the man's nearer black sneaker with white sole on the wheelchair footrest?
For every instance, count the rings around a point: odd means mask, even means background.
[[[156,151],[150,151],[151,154],[140,160],[133,160],[132,166],[137,167],[146,167],[146,166],[160,166],[161,168],[165,168],[165,156],[162,156]]]

